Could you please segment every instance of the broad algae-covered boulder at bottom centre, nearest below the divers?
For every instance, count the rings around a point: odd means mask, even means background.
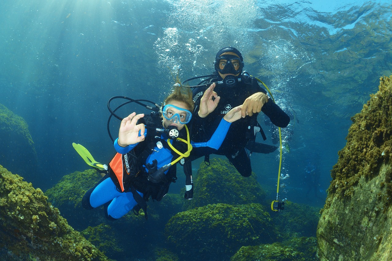
[[[181,260],[229,260],[241,246],[272,243],[273,228],[260,204],[212,204],[176,214],[165,234]]]

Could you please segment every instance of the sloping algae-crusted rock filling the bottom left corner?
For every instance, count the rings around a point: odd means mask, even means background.
[[[47,196],[0,165],[1,260],[108,260]]]

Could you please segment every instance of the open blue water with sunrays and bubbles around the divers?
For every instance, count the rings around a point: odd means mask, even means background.
[[[321,207],[350,117],[377,91],[379,77],[391,74],[392,6],[314,2],[3,0],[0,103],[28,123],[38,154],[38,173],[25,179],[45,190],[87,169],[72,142],[106,161],[114,151],[110,97],[160,102],[171,69],[183,80],[209,74],[216,52],[231,45],[295,116],[282,130],[280,197]],[[114,136],[118,125],[113,120]],[[276,189],[278,150],[251,159],[260,183]],[[320,175],[319,198],[305,195],[308,164]]]

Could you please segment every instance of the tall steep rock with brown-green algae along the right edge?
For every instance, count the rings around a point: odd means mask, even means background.
[[[317,229],[320,260],[392,259],[392,76],[352,117]]]

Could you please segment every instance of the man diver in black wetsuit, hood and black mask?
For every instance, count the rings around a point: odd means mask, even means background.
[[[257,122],[258,113],[262,111],[274,125],[282,128],[289,124],[290,118],[267,96],[267,91],[260,87],[254,77],[242,71],[243,67],[244,62],[240,51],[234,47],[222,48],[216,54],[215,72],[212,77],[199,83],[201,87],[193,89],[195,109],[191,127],[192,140],[198,142],[209,140],[221,118],[236,106],[242,105],[242,118],[232,123],[219,149],[195,148],[192,151],[191,160],[205,156],[207,163],[210,154],[224,155],[242,176],[249,177],[252,168],[245,147],[253,152],[261,153],[269,153],[276,149],[276,147],[255,142],[257,132],[261,131],[264,138],[260,124]],[[205,84],[212,82],[221,82],[215,87],[215,91],[219,93],[220,102],[215,111],[205,115],[200,113],[200,99],[207,88]]]

